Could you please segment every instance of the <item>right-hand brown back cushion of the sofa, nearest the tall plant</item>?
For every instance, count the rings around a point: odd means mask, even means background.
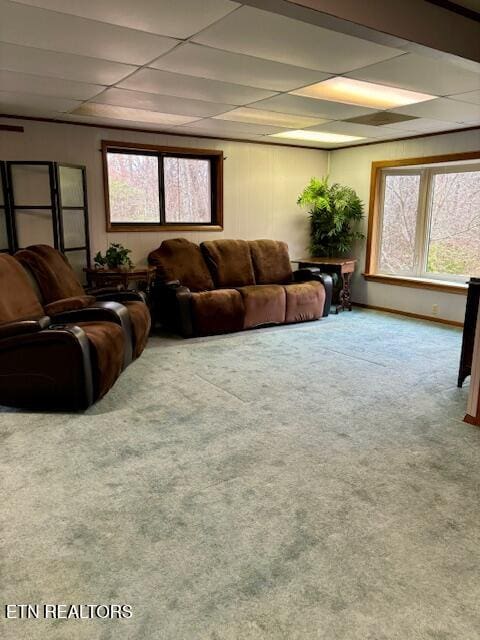
[[[293,281],[286,242],[251,240],[248,244],[257,284],[288,284]]]

